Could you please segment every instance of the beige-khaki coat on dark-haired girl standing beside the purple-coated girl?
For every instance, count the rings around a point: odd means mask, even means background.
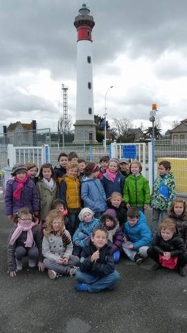
[[[37,182],[37,191],[39,196],[39,217],[45,221],[46,216],[52,210],[55,199],[58,198],[58,187],[54,180],[53,188],[50,189],[44,180]]]

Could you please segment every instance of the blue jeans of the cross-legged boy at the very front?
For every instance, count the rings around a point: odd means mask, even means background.
[[[98,293],[98,291],[103,289],[113,289],[114,284],[120,279],[120,275],[116,270],[103,277],[78,271],[75,275],[75,279],[80,283],[89,284],[90,293]]]

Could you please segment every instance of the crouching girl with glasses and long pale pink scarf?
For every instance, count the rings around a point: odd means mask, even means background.
[[[35,219],[27,207],[21,208],[14,219],[8,239],[8,270],[13,278],[22,269],[22,258],[28,255],[28,267],[35,267],[38,261],[39,271],[44,271],[42,257],[42,236]]]

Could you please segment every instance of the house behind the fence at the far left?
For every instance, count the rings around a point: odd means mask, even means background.
[[[37,123],[10,123],[8,127],[3,126],[3,135],[7,144],[35,146]]]

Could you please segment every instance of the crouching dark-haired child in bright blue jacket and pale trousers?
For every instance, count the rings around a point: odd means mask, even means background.
[[[152,241],[150,228],[143,212],[138,208],[127,210],[127,222],[124,224],[123,250],[125,255],[140,265],[148,257],[147,250]]]

